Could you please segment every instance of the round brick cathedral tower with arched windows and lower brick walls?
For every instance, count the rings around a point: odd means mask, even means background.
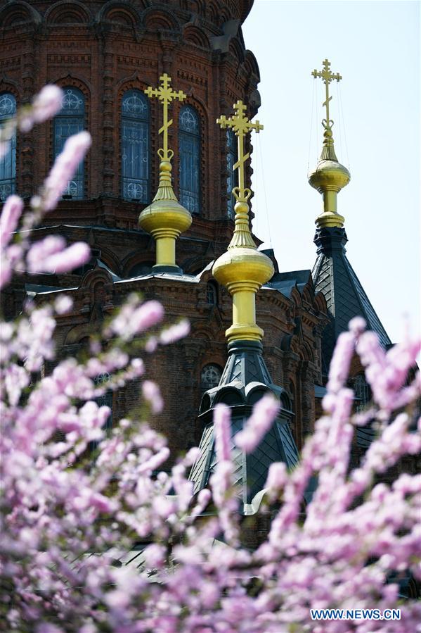
[[[74,310],[58,327],[62,356],[82,349],[130,292],[161,301],[169,322],[188,318],[190,336],[147,363],[166,401],[153,424],[167,434],[174,454],[200,441],[201,396],[216,387],[226,364],[231,298],[212,277],[212,263],[233,235],[237,154],[233,132],[222,130],[216,118],[238,100],[250,118],[259,108],[259,68],[241,30],[251,8],[252,0],[12,0],[0,9],[0,118],[48,82],[65,93],[53,121],[15,140],[0,173],[0,195],[15,191],[29,198],[70,134],[86,129],[93,138],[58,208],[37,230],[39,237],[58,233],[67,242],[88,242],[89,265],[72,274],[18,277],[5,310],[19,311],[27,295],[43,301],[56,292],[70,294]],[[162,108],[145,89],[157,87],[164,74],[186,95],[171,102],[169,114],[174,194],[192,219],[176,240],[174,272],[153,269],[155,239],[138,225],[160,177]],[[249,187],[251,174],[249,166]],[[284,390],[300,448],[315,418],[326,303],[309,270],[278,272],[273,251],[266,254],[275,272],[257,296],[257,319],[266,365]],[[138,391],[133,384],[108,395],[115,418],[136,406]]]

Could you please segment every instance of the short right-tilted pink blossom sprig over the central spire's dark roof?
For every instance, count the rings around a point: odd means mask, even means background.
[[[234,441],[238,448],[245,453],[252,453],[271,428],[278,411],[278,401],[272,394],[265,394],[254,405],[253,413],[245,423],[243,430],[235,435]]]

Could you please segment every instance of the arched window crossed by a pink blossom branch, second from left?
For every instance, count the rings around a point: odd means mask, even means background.
[[[54,156],[63,150],[66,139],[82,132],[85,127],[85,99],[79,89],[63,88],[64,99],[56,118],[54,118]],[[79,163],[77,171],[63,192],[64,199],[81,200],[84,197],[84,163]]]

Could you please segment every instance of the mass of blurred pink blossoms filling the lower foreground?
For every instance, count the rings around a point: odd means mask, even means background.
[[[25,239],[3,253],[14,249],[13,265],[27,251]],[[51,236],[32,248],[28,257],[37,266],[41,256],[60,257],[64,243]],[[51,305],[26,306],[15,322],[0,320],[0,580],[8,589],[0,616],[7,629],[346,633],[349,622],[315,622],[310,609],[400,608],[401,620],[387,622],[387,631],[417,630],[421,607],[400,600],[398,582],[408,572],[420,578],[421,478],[378,480],[421,451],[421,420],[415,429],[412,406],[419,375],[406,384],[418,341],[385,353],[361,320],[351,322],[330,370],[326,413],[299,463],[291,472],[284,463],[268,470],[268,501],[279,509],[272,506],[269,515],[261,503],[240,530],[230,408],[216,406],[216,458],[203,463],[212,473],[209,487],[193,494],[188,470],[205,457],[199,449],[171,458],[164,436],[136,412],[116,418],[118,398],[112,430],[105,432],[110,408],[94,401],[144,372],[142,359],[131,358],[138,346],[127,343],[155,325],[162,308],[130,296],[105,327],[108,337],[117,337],[104,341],[98,331],[95,357],[86,362],[56,358],[54,315],[67,308],[70,302],[58,296]],[[373,389],[364,419],[352,414],[353,394],[345,387],[355,346]],[[46,361],[56,366],[37,378]],[[110,380],[93,384],[101,373]],[[151,410],[162,410],[157,385],[145,381],[142,390]],[[411,406],[396,414],[402,403]],[[235,437],[238,446],[252,451],[277,411],[273,398],[261,399]],[[354,430],[368,420],[377,437],[353,468]],[[65,434],[59,441],[58,432]],[[99,443],[89,453],[93,440]],[[263,541],[255,551],[240,538],[247,534]],[[139,539],[149,543],[143,553],[133,549]],[[385,631],[375,620],[352,627]]]

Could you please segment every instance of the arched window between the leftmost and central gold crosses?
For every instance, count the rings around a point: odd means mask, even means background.
[[[190,211],[200,211],[200,126],[195,108],[184,106],[179,116],[180,202]]]

